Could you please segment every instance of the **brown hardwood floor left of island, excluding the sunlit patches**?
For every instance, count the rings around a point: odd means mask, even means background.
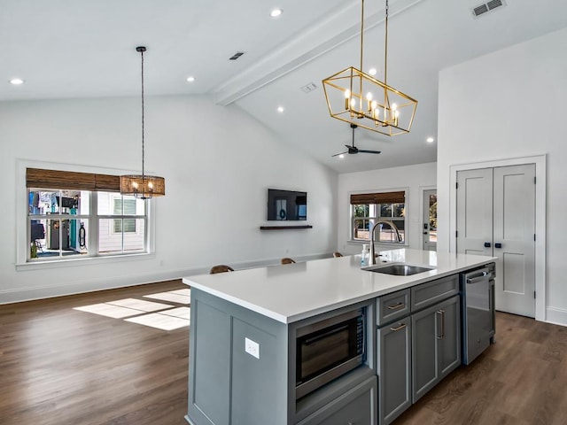
[[[188,328],[73,310],[185,288],[162,282],[0,305],[0,424],[186,425]]]

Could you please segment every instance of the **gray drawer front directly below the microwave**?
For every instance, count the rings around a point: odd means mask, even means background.
[[[332,400],[297,425],[372,425],[377,423],[377,377],[372,376]]]

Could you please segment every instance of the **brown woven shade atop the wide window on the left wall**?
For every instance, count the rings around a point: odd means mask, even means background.
[[[26,187],[36,189],[120,192],[120,176],[27,168]]]

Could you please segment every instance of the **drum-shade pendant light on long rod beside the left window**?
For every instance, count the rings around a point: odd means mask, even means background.
[[[144,46],[136,47],[142,56],[142,174],[120,175],[120,194],[133,195],[140,199],[162,197],[166,194],[166,180],[163,177],[147,175],[144,171]]]

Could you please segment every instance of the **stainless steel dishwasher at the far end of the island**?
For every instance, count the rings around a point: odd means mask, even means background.
[[[494,342],[494,263],[461,274],[462,363],[470,362]]]

